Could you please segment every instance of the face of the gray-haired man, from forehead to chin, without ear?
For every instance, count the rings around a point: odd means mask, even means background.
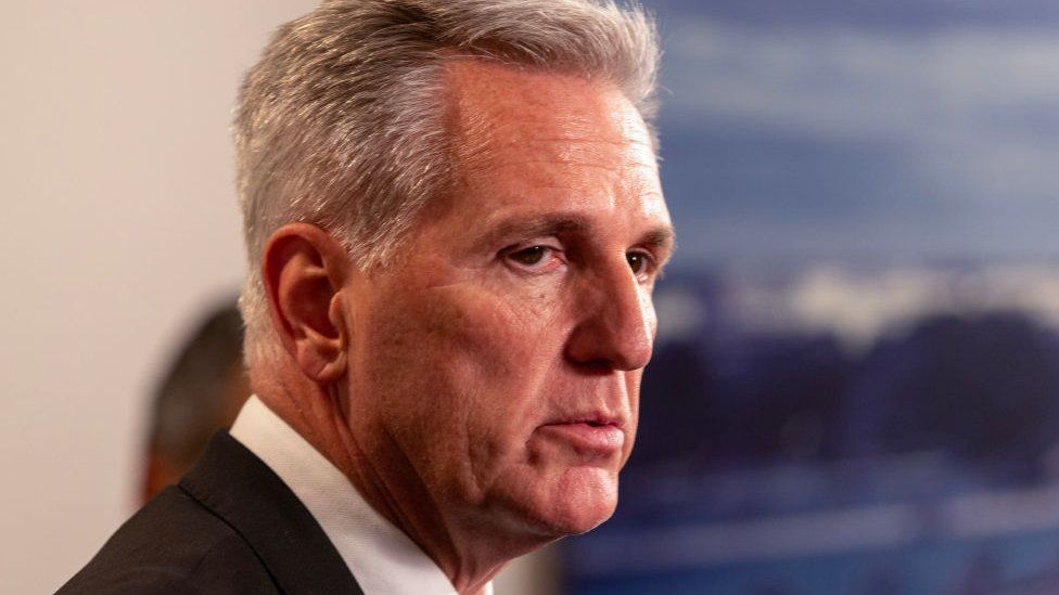
[[[605,520],[672,245],[648,131],[615,89],[450,66],[461,182],[350,281],[349,423],[397,502],[558,536]]]

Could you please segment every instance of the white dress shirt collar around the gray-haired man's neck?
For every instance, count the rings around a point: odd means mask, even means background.
[[[372,508],[346,476],[251,397],[231,435],[265,462],[309,509],[365,595],[452,595],[448,577],[408,535]],[[493,595],[493,583],[485,595]]]

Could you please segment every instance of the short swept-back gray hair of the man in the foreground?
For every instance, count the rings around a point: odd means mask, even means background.
[[[454,56],[599,79],[645,120],[654,114],[656,36],[636,4],[330,0],[283,25],[246,75],[234,126],[250,363],[277,347],[259,273],[277,229],[319,225],[366,270],[451,187],[443,68]]]

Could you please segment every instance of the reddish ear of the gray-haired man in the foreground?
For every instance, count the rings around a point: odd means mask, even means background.
[[[272,326],[302,373],[322,385],[346,372],[342,289],[349,266],[342,244],[309,223],[277,230],[261,257]]]

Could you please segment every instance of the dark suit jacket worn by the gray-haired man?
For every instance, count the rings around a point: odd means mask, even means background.
[[[219,432],[60,594],[360,594],[339,552],[283,481]]]

